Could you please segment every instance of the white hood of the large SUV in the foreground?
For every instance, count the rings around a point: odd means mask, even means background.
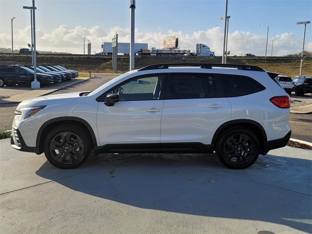
[[[46,95],[41,97],[36,97],[32,99],[27,99],[22,101],[16,108],[16,110],[41,105],[52,105],[63,102],[71,102],[76,98],[80,97],[79,94],[82,92],[66,93],[66,94],[56,94],[56,95]]]

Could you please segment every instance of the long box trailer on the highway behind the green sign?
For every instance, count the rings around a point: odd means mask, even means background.
[[[124,55],[129,55],[130,54],[130,43],[123,43],[123,42],[118,42],[118,48],[117,48],[117,53],[124,54]],[[134,43],[134,51],[137,53],[138,51],[142,50],[147,50],[148,44],[147,43]],[[112,55],[113,54],[113,49],[112,49],[112,43],[111,42],[103,42],[102,44],[102,52],[98,54],[103,54],[103,55]]]

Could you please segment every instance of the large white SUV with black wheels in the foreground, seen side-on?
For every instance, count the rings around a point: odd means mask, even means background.
[[[17,106],[11,145],[76,168],[103,153],[212,153],[251,166],[291,135],[290,98],[256,66],[156,64],[94,91],[48,95]]]

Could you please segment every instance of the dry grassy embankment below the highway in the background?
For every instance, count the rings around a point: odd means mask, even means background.
[[[177,63],[177,62],[197,62],[197,63],[221,63],[220,57],[194,57],[194,58],[168,58],[168,57],[136,57],[135,68],[141,68],[150,64],[157,63]],[[233,58],[229,57],[227,63],[232,64],[249,64],[260,66],[261,68],[277,72],[291,77],[298,76],[300,72],[300,58]],[[10,56],[0,55],[0,65],[9,64],[31,64],[31,57],[27,55]],[[60,64],[68,69],[73,69],[79,72],[112,72],[111,57],[95,57],[95,56],[37,56],[37,64]],[[119,73],[129,70],[129,57],[118,58]],[[305,59],[303,63],[303,75],[312,76],[312,61]]]

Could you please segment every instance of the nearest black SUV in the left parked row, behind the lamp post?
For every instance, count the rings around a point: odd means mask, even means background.
[[[27,84],[34,80],[34,71],[24,66],[0,66],[0,87]],[[53,84],[53,76],[37,73],[40,86]]]

